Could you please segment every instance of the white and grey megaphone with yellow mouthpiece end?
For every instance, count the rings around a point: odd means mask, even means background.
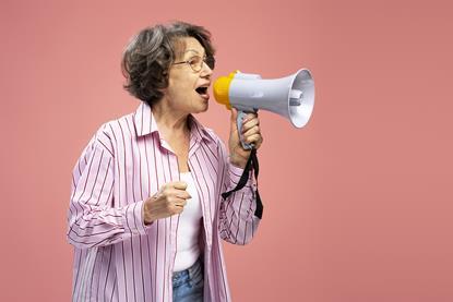
[[[233,72],[214,83],[214,97],[228,109],[238,109],[237,125],[248,112],[263,109],[288,119],[294,126],[302,128],[310,120],[314,105],[314,82],[307,69],[281,78],[263,80],[259,74]],[[240,132],[239,132],[240,133]],[[242,141],[245,149],[253,145]]]

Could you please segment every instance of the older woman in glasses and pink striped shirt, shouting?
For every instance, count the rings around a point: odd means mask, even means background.
[[[208,108],[210,33],[182,22],[141,31],[127,47],[135,112],[99,128],[72,177],[68,240],[73,301],[230,301],[220,239],[250,242],[260,222],[257,181],[227,198],[249,150],[230,120],[229,156],[193,117]],[[259,148],[255,114],[243,140]]]

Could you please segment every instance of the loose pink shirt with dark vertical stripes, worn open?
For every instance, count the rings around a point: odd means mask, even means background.
[[[248,243],[260,219],[254,189],[226,201],[242,169],[229,164],[224,143],[189,116],[189,168],[203,209],[204,301],[230,301],[220,239]],[[105,123],[72,176],[68,240],[74,245],[73,301],[172,301],[179,215],[145,226],[143,203],[179,180],[178,159],[159,137],[148,105]]]

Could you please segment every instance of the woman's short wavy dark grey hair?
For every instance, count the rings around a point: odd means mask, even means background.
[[[122,56],[124,89],[151,107],[160,100],[162,90],[168,87],[168,70],[181,48],[178,40],[184,37],[195,38],[214,62],[211,33],[204,27],[179,21],[146,27],[130,40]]]

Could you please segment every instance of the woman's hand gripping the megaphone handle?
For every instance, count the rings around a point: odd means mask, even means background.
[[[230,119],[230,131],[229,131],[229,160],[233,165],[246,168],[247,160],[250,156],[250,150],[242,148],[242,144],[239,138],[239,131],[237,125],[237,116],[238,110],[231,108],[231,119]],[[243,141],[248,144],[254,144],[254,148],[260,148],[263,143],[263,136],[260,132],[260,120],[258,119],[257,113],[248,113],[247,118],[242,122],[242,133]]]

